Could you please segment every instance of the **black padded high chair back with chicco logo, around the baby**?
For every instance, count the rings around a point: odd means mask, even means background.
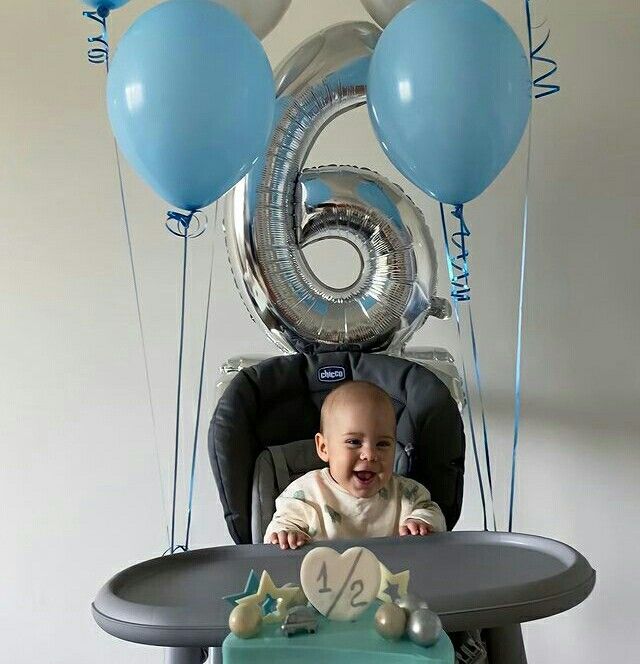
[[[359,352],[274,357],[243,369],[222,394],[209,428],[209,458],[229,532],[251,542],[256,458],[268,446],[313,438],[327,394],[345,380],[367,380],[393,399],[398,440],[413,446],[409,476],[424,484],[449,529],[462,508],[464,431],[447,387],[428,369]]]

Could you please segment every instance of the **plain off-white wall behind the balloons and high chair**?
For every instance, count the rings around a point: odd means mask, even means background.
[[[114,14],[114,42],[153,4]],[[521,3],[492,4],[524,38]],[[536,103],[533,123],[516,529],[577,547],[598,582],[581,607],[527,625],[525,638],[533,663],[631,661],[640,648],[640,10],[635,0],[544,10],[562,91]],[[319,28],[364,18],[357,0],[295,0],[265,46],[275,64]],[[166,546],[103,72],[85,61],[90,29],[73,0],[0,4],[0,660],[11,664],[159,661],[102,633],[89,613],[110,575]],[[312,163],[362,164],[404,184],[438,236],[435,205],[386,161],[363,110],[327,129]],[[503,524],[524,166],[521,146],[467,213]],[[125,186],[166,491],[180,248],[163,228],[166,206],[128,167]],[[194,242],[198,326],[208,237]],[[208,403],[225,358],[272,350],[235,293],[219,233],[215,241]],[[430,322],[416,343],[456,350],[453,324]],[[227,543],[202,452],[193,544]],[[478,528],[468,477],[461,527]]]

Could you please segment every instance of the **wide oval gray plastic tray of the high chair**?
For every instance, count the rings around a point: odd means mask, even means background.
[[[361,544],[391,571],[410,569],[411,590],[427,599],[448,631],[551,616],[582,602],[595,583],[580,553],[532,535],[449,532],[324,544],[340,551]],[[268,570],[278,584],[296,583],[310,548],[235,545],[154,558],[116,574],[98,593],[93,615],[126,641],[219,646],[231,608],[222,597],[243,588],[251,569]]]

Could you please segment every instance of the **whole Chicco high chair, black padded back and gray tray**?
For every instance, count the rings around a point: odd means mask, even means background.
[[[336,351],[228,366],[227,376],[209,456],[227,528],[240,546],[140,563],[114,576],[92,605],[104,630],[169,648],[171,664],[200,664],[209,647],[220,656],[229,614],[222,598],[243,586],[250,569],[267,569],[280,584],[296,582],[309,547],[281,551],[260,542],[276,496],[321,465],[313,444],[320,406],[340,382],[368,380],[391,396],[398,424],[394,470],[429,489],[449,530],[462,506],[460,393],[442,364],[429,369],[401,357]],[[447,532],[357,543],[389,569],[411,570],[412,592],[440,615],[460,664],[526,664],[520,623],[570,609],[595,583],[580,553],[538,536]],[[330,543],[339,551],[353,544]]]

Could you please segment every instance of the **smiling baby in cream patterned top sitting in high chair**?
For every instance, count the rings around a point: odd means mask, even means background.
[[[276,499],[266,544],[296,549],[311,540],[446,530],[427,489],[392,472],[396,418],[384,390],[364,381],[333,390],[322,405],[315,440],[329,467],[293,481]]]

